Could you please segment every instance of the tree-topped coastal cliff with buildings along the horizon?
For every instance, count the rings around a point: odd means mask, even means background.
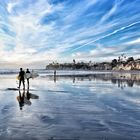
[[[111,62],[53,62],[46,66],[46,70],[140,70],[140,59],[121,56]]]

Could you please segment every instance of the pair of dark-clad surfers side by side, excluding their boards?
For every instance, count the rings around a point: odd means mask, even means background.
[[[30,74],[30,71],[29,69],[26,70],[26,72],[20,68],[20,71],[19,71],[19,89],[20,89],[20,86],[21,86],[21,83],[23,84],[23,89],[25,90],[25,75],[26,74]],[[27,88],[29,89],[29,77],[26,77],[27,79]]]

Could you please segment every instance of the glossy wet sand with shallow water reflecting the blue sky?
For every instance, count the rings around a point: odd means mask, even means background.
[[[25,91],[20,108],[18,81],[14,75],[2,75],[0,139],[139,140],[139,77],[38,77],[30,80],[32,95],[28,100]]]

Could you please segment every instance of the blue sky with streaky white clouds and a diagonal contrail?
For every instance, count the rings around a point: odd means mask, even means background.
[[[140,0],[0,0],[0,68],[139,52]]]

